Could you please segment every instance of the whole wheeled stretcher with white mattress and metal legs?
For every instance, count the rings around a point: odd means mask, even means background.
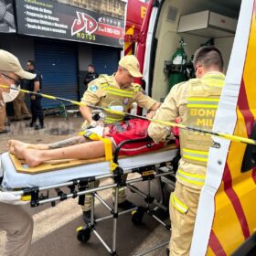
[[[163,204],[163,182],[169,184],[170,186],[175,186],[175,174],[172,168],[172,160],[176,157],[176,145],[169,144],[164,148],[150,152],[144,155],[134,155],[134,156],[122,156],[119,159],[118,153],[123,144],[129,144],[132,141],[126,141],[120,144],[114,155],[113,162],[116,167],[111,172],[110,163],[104,161],[104,158],[97,158],[89,161],[73,161],[75,166],[69,165],[67,168],[63,168],[63,163],[54,163],[53,171],[48,171],[45,173],[37,174],[26,174],[24,170],[27,169],[26,165],[22,165],[23,173],[16,171],[15,166],[11,160],[8,153],[1,155],[1,165],[4,175],[2,177],[2,189],[13,190],[18,189],[18,192],[23,197],[30,201],[31,207],[36,207],[43,205],[45,203],[51,202],[52,206],[55,205],[56,201],[65,200],[70,197],[80,197],[82,200],[84,195],[91,194],[91,224],[86,227],[81,227],[78,229],[78,240],[86,242],[90,240],[91,233],[94,233],[96,237],[101,241],[102,245],[111,255],[116,255],[116,229],[117,229],[117,219],[119,215],[129,213],[133,211],[133,223],[139,223],[142,221],[144,212],[150,214],[159,223],[163,224],[166,229],[170,229],[161,219],[155,216],[155,210],[157,208],[162,208],[165,211],[167,208]],[[72,162],[72,161],[70,161]],[[72,164],[72,163],[70,163]],[[49,165],[49,164],[48,164]],[[67,165],[67,163],[64,163]],[[60,167],[59,167],[60,166]],[[60,168],[60,169],[59,169]],[[138,178],[133,178],[130,180],[123,180],[124,174],[138,173],[141,176]],[[101,180],[103,178],[112,177],[114,180],[113,184],[100,186],[89,189],[88,183],[95,180]],[[157,200],[151,195],[151,181],[156,178],[157,184],[161,192],[161,199]],[[144,193],[139,188],[135,187],[134,184],[146,181],[147,192]],[[69,188],[69,193],[64,193],[62,189],[64,187]],[[113,207],[111,207],[107,202],[105,202],[98,194],[97,191],[104,189],[115,188],[115,198]],[[132,192],[137,193],[141,197],[144,197],[146,203],[145,208],[136,207],[129,210],[118,211],[118,188],[128,187]],[[56,197],[48,197],[48,190],[55,189],[57,191]],[[66,191],[66,190],[65,190]],[[42,193],[45,196],[42,197]],[[47,195],[47,196],[46,196]],[[110,215],[103,217],[101,219],[94,219],[94,200],[95,197],[101,201],[101,203],[110,210]],[[155,208],[151,207],[154,206]],[[104,240],[102,240],[100,234],[95,228],[95,223],[104,219],[113,219],[113,229],[112,229],[112,248],[110,248]],[[168,241],[163,243],[163,246],[167,244]],[[154,251],[158,249],[159,245],[150,249],[149,251]],[[146,251],[149,252],[149,251]],[[138,254],[144,255],[144,253]]]

